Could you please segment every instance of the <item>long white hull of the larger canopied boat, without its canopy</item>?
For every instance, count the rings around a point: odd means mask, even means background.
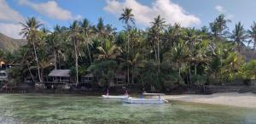
[[[168,102],[166,99],[134,99],[134,98],[128,98],[123,99],[123,102],[126,104],[164,104],[165,102]]]

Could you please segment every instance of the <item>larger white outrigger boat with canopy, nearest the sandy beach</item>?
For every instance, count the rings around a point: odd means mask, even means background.
[[[123,99],[126,104],[165,104],[168,101],[161,96],[165,95],[163,93],[143,93],[143,95],[150,96],[150,99],[136,99],[129,97],[128,99]],[[152,98],[152,96],[158,96],[158,98]]]

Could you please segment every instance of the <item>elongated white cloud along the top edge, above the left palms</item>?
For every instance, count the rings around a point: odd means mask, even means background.
[[[67,9],[61,8],[55,1],[48,1],[46,3],[32,3],[30,0],[19,0],[21,5],[26,5],[40,14],[44,14],[49,18],[56,20],[79,20],[81,15],[74,16]]]

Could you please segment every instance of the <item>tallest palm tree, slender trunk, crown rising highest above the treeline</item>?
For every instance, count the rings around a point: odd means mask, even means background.
[[[130,49],[130,30],[131,30],[131,24],[135,24],[135,19],[134,19],[134,14],[131,13],[132,9],[131,8],[125,8],[123,9],[123,14],[121,14],[121,17],[119,20],[122,20],[125,22],[126,29],[128,31],[128,37],[127,37],[127,59],[129,55],[129,49]],[[129,65],[127,67],[127,81],[130,82],[130,76],[129,76]]]

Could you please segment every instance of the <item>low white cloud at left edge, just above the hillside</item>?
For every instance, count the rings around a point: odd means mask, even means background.
[[[20,24],[12,24],[12,23],[0,23],[0,32],[9,37],[20,39],[20,31],[22,27]]]

